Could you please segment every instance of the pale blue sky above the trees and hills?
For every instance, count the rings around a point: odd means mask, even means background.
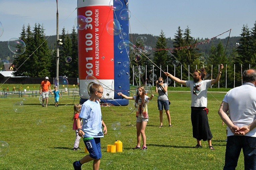
[[[4,27],[0,41],[18,38],[23,24],[44,25],[46,35],[56,35],[56,0],[0,0],[0,22]],[[59,32],[71,33],[77,16],[77,0],[58,0]],[[211,38],[231,30],[239,36],[243,25],[251,29],[256,20],[255,0],[130,0],[130,33],[173,38],[178,26],[191,30],[192,37]],[[225,38],[228,33],[219,36]]]

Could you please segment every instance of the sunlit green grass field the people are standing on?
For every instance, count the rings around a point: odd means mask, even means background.
[[[216,149],[214,151],[208,148],[207,141],[202,142],[200,149],[192,148],[196,145],[196,140],[192,137],[189,92],[168,92],[171,101],[171,128],[158,128],[160,122],[157,97],[148,104],[150,119],[146,127],[147,151],[131,150],[136,146],[136,117],[134,112],[129,114],[129,107],[102,107],[102,117],[108,131],[101,140],[100,169],[223,169],[226,126],[222,126],[218,110],[224,95],[225,93],[208,92],[208,119],[213,135],[212,145]],[[9,144],[9,152],[0,156],[1,170],[72,170],[72,163],[85,155],[84,150],[72,150],[75,139],[75,132],[72,130],[73,104],[79,103],[79,98],[63,96],[59,100],[59,107],[54,107],[51,101],[53,99],[50,99],[48,108],[42,107],[38,99],[28,96],[0,98],[0,141]],[[14,112],[14,103],[20,101],[23,101],[23,107]],[[119,131],[111,128],[115,121],[121,124]],[[66,128],[61,128],[63,125]],[[164,125],[168,125],[166,115]],[[108,153],[107,145],[114,144],[115,140],[123,143],[123,152]],[[82,140],[80,148],[84,148]],[[92,169],[92,162],[84,164],[82,169]],[[237,169],[244,169],[242,153]]]

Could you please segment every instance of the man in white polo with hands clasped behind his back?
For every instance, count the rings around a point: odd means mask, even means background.
[[[218,112],[229,127],[224,170],[236,169],[241,149],[244,169],[256,169],[256,70],[245,70],[243,81],[225,95]]]

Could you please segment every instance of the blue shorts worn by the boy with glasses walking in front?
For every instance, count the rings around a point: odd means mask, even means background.
[[[84,144],[88,150],[90,157],[93,159],[100,159],[101,156],[101,147],[100,147],[100,138],[93,138],[85,140]]]

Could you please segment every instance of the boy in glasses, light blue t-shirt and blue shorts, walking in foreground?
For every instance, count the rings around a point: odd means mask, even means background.
[[[78,135],[83,137],[89,155],[86,155],[79,161],[73,162],[75,170],[81,170],[81,166],[84,163],[92,160],[93,169],[99,169],[101,158],[100,138],[103,138],[107,134],[107,127],[102,120],[100,103],[98,101],[103,95],[103,88],[100,84],[93,83],[89,91],[91,95],[90,99],[83,103],[79,119],[76,121]],[[81,120],[83,120],[82,127],[80,125]]]

